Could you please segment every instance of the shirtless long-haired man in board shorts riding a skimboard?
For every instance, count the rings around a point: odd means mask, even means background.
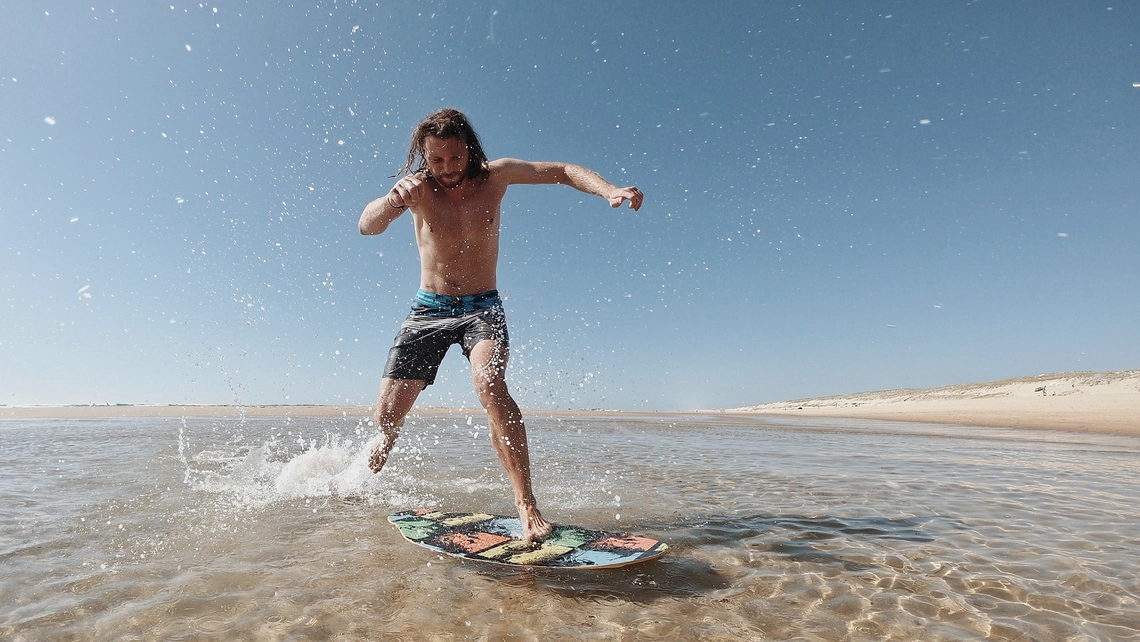
[[[420,292],[384,366],[374,417],[381,440],[368,465],[373,472],[384,468],[404,417],[435,381],[447,349],[458,343],[487,411],[491,446],[511,479],[523,537],[542,539],[552,527],[531,490],[527,429],[506,389],[508,336],[496,291],[499,206],[515,184],[569,185],[613,208],[628,201],[634,210],[642,193],[569,163],[488,161],[466,116],[455,109],[441,109],[416,127],[399,173],[404,178],[360,214],[360,234],[381,234],[412,210],[420,247]]]

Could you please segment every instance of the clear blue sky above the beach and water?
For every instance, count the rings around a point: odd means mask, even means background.
[[[507,193],[524,407],[1140,367],[1133,2],[0,15],[0,404],[370,404],[418,265],[356,222],[442,106],[646,194]]]

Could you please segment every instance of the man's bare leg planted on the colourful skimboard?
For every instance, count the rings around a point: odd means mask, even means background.
[[[530,486],[530,450],[527,446],[527,426],[522,412],[506,390],[507,348],[492,340],[483,340],[471,349],[471,371],[479,403],[487,409],[491,446],[503,462],[514,488],[514,506],[522,522],[526,539],[542,539],[553,527],[538,512],[535,493]]]

